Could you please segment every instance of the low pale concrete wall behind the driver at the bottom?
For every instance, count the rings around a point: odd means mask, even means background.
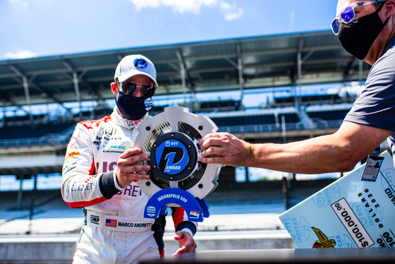
[[[77,239],[78,236],[0,239],[0,263],[71,263]],[[178,242],[172,234],[164,239],[165,256],[170,258]],[[296,248],[291,237],[282,231],[202,232],[195,241],[197,251]]]

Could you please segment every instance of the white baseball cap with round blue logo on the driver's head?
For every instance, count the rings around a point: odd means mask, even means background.
[[[157,70],[154,64],[150,59],[140,54],[123,57],[116,66],[114,80],[118,79],[119,82],[124,82],[128,78],[139,74],[150,77],[158,86]]]

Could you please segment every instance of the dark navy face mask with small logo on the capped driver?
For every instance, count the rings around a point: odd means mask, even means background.
[[[116,107],[118,107],[119,113],[124,118],[128,120],[139,120],[151,109],[152,98],[135,97],[119,91]]]

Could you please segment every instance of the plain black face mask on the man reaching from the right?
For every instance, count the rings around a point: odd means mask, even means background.
[[[338,37],[341,46],[348,53],[356,56],[357,59],[365,59],[373,42],[375,42],[377,36],[382,32],[384,26],[387,25],[389,18],[382,23],[379,17],[379,11],[383,6],[384,4],[377,11],[358,18],[358,20],[351,21],[348,24],[340,23]]]

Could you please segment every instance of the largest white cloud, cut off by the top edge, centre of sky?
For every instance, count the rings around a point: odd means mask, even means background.
[[[243,16],[243,8],[236,6],[236,3],[229,4],[224,0],[129,0],[135,5],[135,9],[142,8],[170,7],[174,13],[195,13],[199,14],[202,7],[217,7],[224,14],[226,20],[233,20]]]

